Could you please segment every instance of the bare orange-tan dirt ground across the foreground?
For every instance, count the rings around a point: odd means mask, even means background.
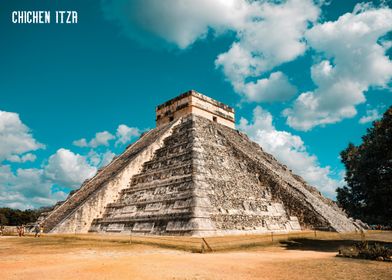
[[[320,249],[305,243],[200,254],[99,240],[3,236],[0,279],[392,279],[392,263],[337,258],[331,247],[336,244]]]

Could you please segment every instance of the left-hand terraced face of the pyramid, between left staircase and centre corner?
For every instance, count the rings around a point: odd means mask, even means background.
[[[107,205],[103,218],[94,220],[91,231],[191,234],[194,230],[191,125],[189,121],[180,121],[153,159],[132,177],[129,188]]]

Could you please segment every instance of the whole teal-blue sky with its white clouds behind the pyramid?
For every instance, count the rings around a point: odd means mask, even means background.
[[[189,89],[334,198],[339,152],[392,104],[392,5],[361,2],[1,1],[0,206],[64,199]]]

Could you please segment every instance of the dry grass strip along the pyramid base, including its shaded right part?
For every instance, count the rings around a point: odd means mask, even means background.
[[[366,239],[365,239],[366,238]],[[289,234],[232,235],[215,237],[186,236],[127,236],[98,234],[44,234],[40,238],[32,236],[18,238],[14,242],[33,247],[51,248],[58,245],[65,250],[83,247],[124,247],[129,245],[149,245],[166,249],[193,253],[220,251],[252,250],[262,247],[285,247],[287,250],[312,250],[337,252],[342,248],[351,248],[359,241],[368,244],[388,243],[392,248],[392,232],[369,231],[366,235],[359,233],[339,234],[333,232],[305,231]],[[350,249],[348,249],[350,250]],[[377,248],[379,251],[379,249]],[[384,258],[384,257],[383,257]]]

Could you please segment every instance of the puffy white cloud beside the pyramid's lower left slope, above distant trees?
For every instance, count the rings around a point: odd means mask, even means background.
[[[91,178],[97,168],[88,164],[86,157],[61,148],[49,157],[44,167],[44,175],[52,182],[77,188],[87,178]]]

